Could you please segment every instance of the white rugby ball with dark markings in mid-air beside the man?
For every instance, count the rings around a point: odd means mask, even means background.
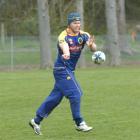
[[[105,62],[106,56],[105,53],[102,51],[96,51],[92,55],[92,61],[94,61],[96,64],[101,64]]]

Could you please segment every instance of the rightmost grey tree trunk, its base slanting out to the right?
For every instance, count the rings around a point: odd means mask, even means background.
[[[126,35],[125,0],[117,0],[117,16],[120,50],[132,54]]]

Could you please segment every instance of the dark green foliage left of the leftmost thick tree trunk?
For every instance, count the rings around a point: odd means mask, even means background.
[[[5,24],[7,35],[36,35],[37,3],[34,0],[4,0],[0,3],[0,22]]]

